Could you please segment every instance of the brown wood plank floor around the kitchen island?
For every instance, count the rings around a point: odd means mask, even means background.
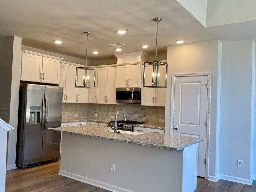
[[[6,174],[6,191],[65,191],[65,192],[109,192],[58,174],[60,161],[33,168],[13,169]],[[171,190],[170,190],[171,191]],[[196,192],[256,192],[256,181],[252,185],[219,180],[217,183],[203,178],[197,179]],[[162,192],[162,191],[158,191]]]

